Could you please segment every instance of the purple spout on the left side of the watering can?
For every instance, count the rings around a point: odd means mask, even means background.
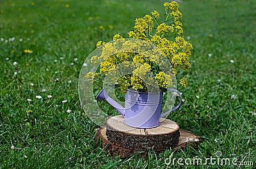
[[[113,107],[115,108],[120,114],[124,115],[124,112],[125,112],[125,108],[122,107],[122,105],[120,105],[119,103],[117,103],[114,99],[110,98],[108,96],[108,93],[106,91],[105,88],[103,88],[99,94],[96,96],[95,99],[103,99],[103,100],[106,100],[108,101],[108,103]]]

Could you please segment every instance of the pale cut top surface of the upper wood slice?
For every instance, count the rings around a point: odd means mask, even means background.
[[[179,125],[169,119],[162,119],[160,126],[150,129],[132,128],[124,123],[122,115],[110,117],[107,126],[115,131],[120,131],[129,135],[168,135],[179,130]]]

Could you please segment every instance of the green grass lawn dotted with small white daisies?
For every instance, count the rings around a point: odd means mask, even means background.
[[[95,143],[99,126],[84,115],[77,93],[81,66],[97,41],[111,41],[115,33],[127,37],[134,18],[163,11],[164,1],[31,2],[0,1],[0,168],[239,167],[166,165],[172,150],[120,160]],[[253,162],[240,168],[255,167],[255,8],[253,0],[180,3],[194,51],[191,70],[179,75],[189,80],[179,87],[184,104],[169,118],[201,142],[175,151],[172,159],[216,158],[221,151],[221,158],[236,154],[238,161]]]

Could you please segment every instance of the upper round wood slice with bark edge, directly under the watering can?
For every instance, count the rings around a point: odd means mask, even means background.
[[[179,125],[164,119],[156,128],[132,128],[124,123],[122,115],[110,117],[106,125],[109,142],[134,151],[164,151],[176,147],[179,143]]]

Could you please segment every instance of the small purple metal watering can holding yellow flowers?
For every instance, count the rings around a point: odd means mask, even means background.
[[[172,110],[161,114],[163,103],[163,92],[138,92],[127,90],[125,94],[125,107],[122,107],[114,99],[108,96],[106,89],[102,89],[95,99],[103,99],[114,107],[120,114],[124,116],[124,122],[128,126],[134,128],[155,128],[160,125],[160,118],[164,115],[170,114],[173,110],[180,107],[182,98],[179,91],[175,89],[168,89],[168,91],[175,91],[180,97],[179,105]]]

